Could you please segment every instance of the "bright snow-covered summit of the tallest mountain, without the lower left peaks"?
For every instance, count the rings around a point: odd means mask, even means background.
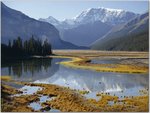
[[[95,21],[101,21],[111,25],[117,25],[126,23],[129,19],[137,16],[137,14],[121,9],[110,8],[90,8],[83,11],[73,20],[76,23],[93,23]]]

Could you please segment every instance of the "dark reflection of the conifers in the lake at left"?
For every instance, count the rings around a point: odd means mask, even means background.
[[[16,75],[17,77],[21,77],[24,73],[31,73],[32,77],[35,73],[38,73],[42,70],[46,71],[49,67],[51,67],[52,58],[34,58],[34,59],[26,59],[19,61],[11,61],[5,63],[2,67],[8,67],[9,75]]]

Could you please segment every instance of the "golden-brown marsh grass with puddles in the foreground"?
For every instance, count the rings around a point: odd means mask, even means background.
[[[17,82],[15,82],[17,83]],[[12,96],[14,94],[20,94],[19,90],[10,87],[8,85],[2,84],[2,111],[4,112],[33,112],[34,110],[28,105],[32,102],[39,101],[41,95],[46,95],[49,97],[55,97],[52,100],[47,100],[42,103],[42,109],[38,111],[45,110],[47,108],[59,109],[65,112],[147,112],[149,109],[148,102],[148,91],[147,89],[140,90],[140,92],[147,93],[141,96],[131,96],[124,98],[119,98],[114,95],[106,93],[98,93],[97,96],[101,98],[97,101],[95,99],[86,99],[77,90],[72,90],[67,87],[61,87],[52,84],[37,84],[37,83],[22,83],[22,85],[27,86],[38,86],[42,90],[37,91],[32,95],[21,95]],[[88,91],[87,91],[88,92]],[[114,104],[109,105],[112,101]]]

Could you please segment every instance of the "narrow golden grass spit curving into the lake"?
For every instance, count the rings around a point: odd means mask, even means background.
[[[142,73],[147,74],[149,68],[146,66],[127,65],[127,64],[93,64],[91,58],[77,57],[77,56],[62,56],[53,55],[51,58],[68,58],[69,61],[62,61],[59,64],[66,67],[86,69],[98,72],[117,72],[117,73]]]

